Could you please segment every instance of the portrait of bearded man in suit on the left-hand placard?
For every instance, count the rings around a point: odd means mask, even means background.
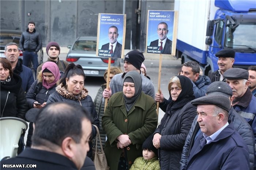
[[[108,37],[109,43],[102,45],[101,50],[110,50],[111,57],[121,58],[122,45],[117,42],[118,28],[116,26],[109,27]]]

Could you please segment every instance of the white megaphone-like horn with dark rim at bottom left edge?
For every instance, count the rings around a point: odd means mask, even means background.
[[[18,117],[0,118],[0,160],[16,157],[20,136],[27,127],[27,122]]]

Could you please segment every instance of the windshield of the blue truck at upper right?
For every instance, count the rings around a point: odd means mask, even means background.
[[[245,31],[246,30],[246,31]],[[227,48],[252,50],[256,49],[256,24],[240,23],[238,27],[227,27],[225,46]]]

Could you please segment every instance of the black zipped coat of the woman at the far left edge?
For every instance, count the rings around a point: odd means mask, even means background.
[[[19,117],[25,120],[28,110],[21,78],[13,73],[8,84],[0,83],[0,117]]]

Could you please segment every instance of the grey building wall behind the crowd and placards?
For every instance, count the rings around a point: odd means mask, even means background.
[[[0,28],[25,31],[33,20],[43,46],[50,41],[67,46],[78,36],[97,36],[98,13],[123,13],[124,2],[125,49],[144,51],[147,10],[173,10],[174,0],[1,0]],[[140,23],[135,12],[139,2],[142,4]]]

